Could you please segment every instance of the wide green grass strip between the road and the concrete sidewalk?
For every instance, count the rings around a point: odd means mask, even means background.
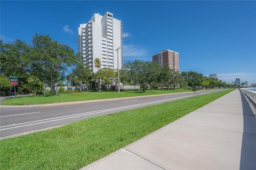
[[[233,90],[93,117],[0,140],[0,169],[80,169]]]

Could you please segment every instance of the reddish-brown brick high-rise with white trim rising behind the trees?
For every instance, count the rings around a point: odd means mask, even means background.
[[[152,56],[152,60],[156,61],[161,67],[166,63],[169,63],[170,68],[174,71],[180,71],[179,67],[179,53],[170,49],[165,49],[160,53]]]

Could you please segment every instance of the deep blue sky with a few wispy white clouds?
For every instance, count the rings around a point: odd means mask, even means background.
[[[170,49],[180,72],[256,83],[256,1],[0,1],[0,38],[49,35],[78,51],[77,32],[94,13],[123,22],[124,62]]]

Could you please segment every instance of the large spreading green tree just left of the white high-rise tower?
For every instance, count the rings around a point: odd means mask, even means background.
[[[44,80],[55,94],[55,83],[64,79],[65,71],[77,62],[74,50],[68,45],[52,41],[50,36],[35,34],[30,51],[30,64],[25,67]]]

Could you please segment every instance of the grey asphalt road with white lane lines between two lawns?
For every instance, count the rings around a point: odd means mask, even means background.
[[[40,130],[59,127],[67,123],[88,119],[90,117],[108,115],[120,111],[145,107],[194,97],[218,90],[206,90],[188,93],[175,93],[102,101],[84,101],[84,103],[59,103],[39,106],[4,106],[0,105],[0,137],[8,138],[28,134]]]

